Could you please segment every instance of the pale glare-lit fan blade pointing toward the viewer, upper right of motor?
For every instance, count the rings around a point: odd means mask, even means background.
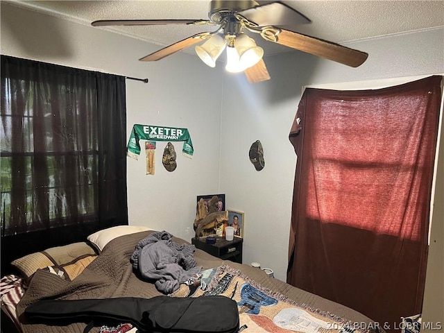
[[[287,26],[291,24],[307,24],[311,21],[297,10],[282,2],[267,3],[237,12],[257,26]]]

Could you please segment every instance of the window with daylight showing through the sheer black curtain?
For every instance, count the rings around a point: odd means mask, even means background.
[[[53,110],[53,105],[46,103],[44,112],[34,110],[39,108],[35,89],[38,82],[12,81],[10,78],[5,80],[7,89],[2,92],[5,101],[2,106],[0,136],[2,233],[14,234],[21,230],[41,229],[48,224],[52,226],[69,224],[72,222],[69,217],[74,212],[84,218],[89,216],[89,219],[95,219],[97,198],[94,194],[98,182],[97,142],[87,140],[88,144],[85,147],[77,144],[78,136],[84,135],[83,124],[77,130],[72,126],[67,128],[67,119],[63,119],[63,114],[53,113],[56,112]],[[8,88],[14,86],[16,90],[12,93]],[[58,99],[58,110],[75,112],[76,118],[81,119],[84,111],[78,110],[79,103],[70,99],[60,99],[60,96],[69,96],[68,89],[66,85],[51,87],[49,95],[46,96],[47,101]],[[51,96],[51,93],[57,96]],[[18,96],[19,94],[21,96]],[[23,112],[17,110],[19,99],[25,99],[24,103],[21,103],[24,106]],[[12,112],[13,108],[16,108],[15,112]],[[64,133],[53,131],[55,122],[60,123]],[[17,123],[22,125],[19,128],[19,136],[22,137],[22,140],[19,139],[21,149],[18,151],[18,143],[12,142],[17,139],[17,130],[13,128]],[[63,136],[65,144],[58,144],[56,136],[59,135]],[[40,144],[35,145],[35,141]],[[73,163],[80,172],[69,173],[67,165],[70,163]],[[76,181],[67,184],[66,176],[76,178]],[[13,195],[12,191],[13,189],[17,191],[17,187],[20,188],[20,192],[23,191],[23,198],[21,195],[20,197]],[[69,197],[76,200],[72,202]],[[45,206],[45,209],[41,210],[39,205]],[[26,226],[19,226],[15,221],[25,222]],[[35,221],[46,221],[46,223],[34,223]]]

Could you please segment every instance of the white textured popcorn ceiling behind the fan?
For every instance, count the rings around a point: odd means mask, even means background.
[[[50,15],[91,24],[98,19],[208,19],[210,1],[4,1]],[[261,1],[269,3],[273,1]],[[285,26],[291,31],[343,43],[370,37],[444,26],[444,1],[429,0],[327,0],[281,1],[311,19],[310,24]],[[100,27],[167,46],[217,26],[119,26]],[[285,46],[255,40],[266,54],[292,51]],[[443,36],[444,37],[444,36]],[[194,48],[185,49],[194,52]]]

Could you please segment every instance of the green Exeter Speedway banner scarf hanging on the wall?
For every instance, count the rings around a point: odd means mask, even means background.
[[[139,140],[150,141],[184,141],[182,153],[191,158],[193,156],[193,143],[189,136],[187,128],[151,126],[135,124],[131,130],[130,140],[128,141],[128,156],[136,160],[140,155]]]

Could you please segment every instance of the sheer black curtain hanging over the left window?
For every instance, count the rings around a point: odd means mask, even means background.
[[[125,77],[1,56],[1,269],[128,224]]]

